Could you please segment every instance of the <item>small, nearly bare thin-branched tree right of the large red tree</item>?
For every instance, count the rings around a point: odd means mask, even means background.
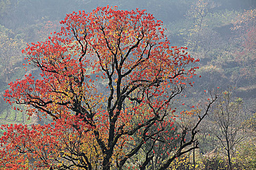
[[[234,97],[234,89],[229,88],[218,97],[209,114],[209,131],[211,136],[217,138],[214,145],[218,152],[228,157],[230,169],[236,148],[247,136],[242,113],[243,100]]]

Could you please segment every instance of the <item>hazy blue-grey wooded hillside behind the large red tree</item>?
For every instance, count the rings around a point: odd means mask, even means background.
[[[207,0],[205,0],[207,1]],[[236,87],[243,100],[242,119],[255,123],[256,113],[256,0],[208,0],[198,14],[198,0],[0,0],[0,124],[48,123],[37,116],[12,109],[3,100],[9,83],[39,70],[24,69],[21,50],[26,43],[45,41],[58,32],[66,14],[97,6],[118,6],[119,10],[146,9],[163,21],[171,46],[188,47],[199,58],[198,76],[183,102],[193,102],[217,86]],[[199,77],[201,75],[201,77]],[[205,91],[204,91],[205,90]],[[20,106],[23,107],[23,106]],[[185,106],[184,106],[185,107]],[[181,108],[182,109],[182,108]],[[248,126],[249,127],[249,126]],[[255,124],[253,126],[255,136]],[[214,147],[201,145],[202,151]]]

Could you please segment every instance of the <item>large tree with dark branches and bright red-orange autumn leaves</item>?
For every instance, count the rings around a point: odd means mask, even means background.
[[[160,20],[145,10],[98,7],[68,14],[61,24],[59,33],[23,51],[41,78],[26,75],[5,93],[7,102],[27,105],[29,115],[50,116],[53,122],[31,129],[2,126],[7,130],[0,138],[2,167],[145,170],[162,147],[155,169],[165,170],[198,148],[197,126],[216,97],[174,142],[172,103],[193,85],[198,60],[185,48],[170,47]]]

